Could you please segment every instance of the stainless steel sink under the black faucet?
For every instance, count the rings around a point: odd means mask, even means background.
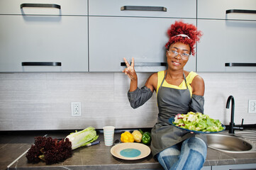
[[[208,147],[223,152],[256,152],[256,132],[245,130],[237,131],[234,135],[228,132],[208,134],[207,143]]]

